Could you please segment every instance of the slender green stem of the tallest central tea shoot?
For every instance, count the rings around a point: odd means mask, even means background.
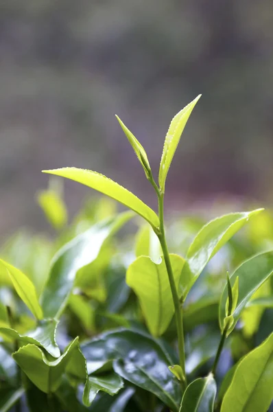
[[[151,182],[152,183],[152,182]],[[154,183],[154,181],[153,181]],[[159,232],[156,233],[158,236],[158,240],[161,243],[161,248],[163,251],[163,256],[165,260],[165,265],[167,268],[167,274],[169,277],[169,285],[171,287],[171,295],[174,301],[174,310],[176,316],[176,330],[178,335],[178,354],[179,354],[179,361],[180,367],[182,368],[183,374],[185,376],[184,386],[187,387],[187,378],[186,378],[186,371],[185,371],[185,344],[184,344],[184,330],[183,330],[183,319],[182,319],[182,308],[180,304],[180,299],[178,296],[178,292],[176,290],[176,282],[174,281],[174,273],[171,268],[171,260],[169,259],[169,251],[166,242],[165,236],[165,228],[164,228],[164,194],[160,192],[156,183],[152,185],[156,190],[156,194],[158,196],[158,215],[160,221],[160,228]]]

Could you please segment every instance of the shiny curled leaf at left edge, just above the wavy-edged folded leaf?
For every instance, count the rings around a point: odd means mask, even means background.
[[[57,325],[58,321],[45,319],[38,323],[35,330],[31,330],[26,334],[19,334],[11,328],[0,328],[0,333],[14,341],[20,341],[25,344],[33,343],[34,345],[43,347],[51,356],[58,358],[60,356],[60,350],[55,341]]]

